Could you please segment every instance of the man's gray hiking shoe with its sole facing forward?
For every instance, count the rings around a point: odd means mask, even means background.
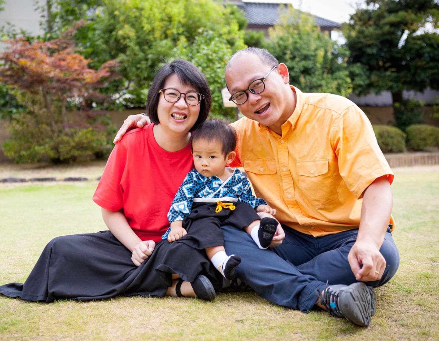
[[[344,317],[351,323],[366,327],[371,323],[372,310],[375,311],[375,302],[372,302],[373,290],[362,282],[351,285],[331,285],[323,291],[316,290],[320,304],[336,317]],[[372,309],[373,305],[373,309]]]

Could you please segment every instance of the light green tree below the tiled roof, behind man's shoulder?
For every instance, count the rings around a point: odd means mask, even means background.
[[[349,96],[352,82],[347,49],[320,32],[313,16],[284,7],[280,23],[270,29],[267,49],[287,65],[290,83],[306,92]]]

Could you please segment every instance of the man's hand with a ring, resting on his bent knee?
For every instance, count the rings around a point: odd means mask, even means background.
[[[356,280],[363,282],[380,280],[386,265],[384,257],[372,240],[357,240],[349,251],[348,261]]]

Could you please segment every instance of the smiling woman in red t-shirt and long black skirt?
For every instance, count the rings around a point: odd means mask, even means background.
[[[0,286],[0,293],[44,302],[215,298],[222,280],[204,252],[161,239],[173,197],[194,168],[191,131],[205,121],[211,103],[209,84],[194,65],[174,60],[163,66],[148,92],[152,123],[116,144],[93,196],[109,231],[54,238],[25,283]]]

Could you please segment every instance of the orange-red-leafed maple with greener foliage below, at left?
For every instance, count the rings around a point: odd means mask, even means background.
[[[86,122],[76,118],[69,122],[67,109],[84,108],[93,101],[108,99],[109,96],[100,94],[98,89],[104,82],[117,77],[117,62],[111,60],[99,70],[90,69],[90,60],[77,53],[73,40],[65,37],[33,43],[12,39],[7,43],[9,48],[0,55],[0,82],[19,90],[22,94],[20,101],[32,115],[28,113],[24,117],[14,117],[10,128],[13,138],[3,146],[5,153],[18,162],[37,161],[44,157],[58,161],[74,160],[76,157],[72,155],[80,154],[75,149],[87,149],[79,141],[79,136],[84,136],[84,129],[88,129],[86,135],[90,142],[90,139],[93,140],[90,135],[93,135],[94,127],[90,120]],[[40,138],[37,133],[39,129],[43,129]],[[35,141],[18,143],[19,136],[14,135],[26,132],[40,140],[40,145]],[[102,145],[101,140],[95,144]],[[60,146],[62,142],[68,142],[68,148]],[[29,150],[22,150],[26,148]],[[70,152],[63,155],[63,150],[67,149]],[[96,150],[86,152],[95,153]]]

